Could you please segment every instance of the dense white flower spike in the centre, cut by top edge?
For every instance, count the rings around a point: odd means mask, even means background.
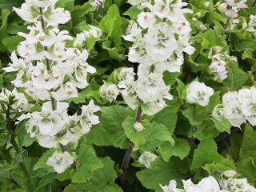
[[[183,63],[183,52],[194,53],[190,46],[190,22],[184,17],[191,10],[182,9],[186,3],[178,1],[134,2],[142,11],[123,38],[133,42],[128,59],[138,62],[138,73],[123,68],[119,74],[118,87],[132,109],[142,107],[144,114],[154,115],[171,100],[170,86],[163,81],[163,72],[178,72]]]

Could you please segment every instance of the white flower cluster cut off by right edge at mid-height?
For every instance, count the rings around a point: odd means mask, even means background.
[[[214,118],[226,118],[232,126],[240,127],[243,122],[256,125],[256,88],[254,86],[223,95],[222,105],[215,106]]]

